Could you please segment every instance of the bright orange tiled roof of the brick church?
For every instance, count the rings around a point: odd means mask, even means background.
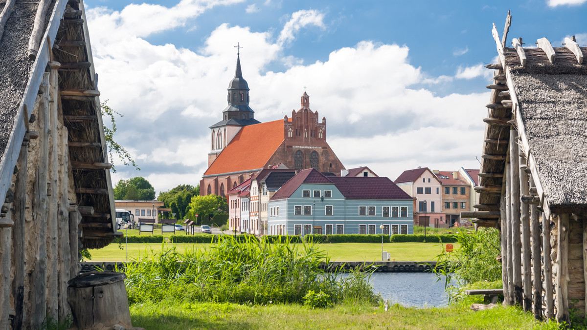
[[[204,176],[263,168],[284,139],[282,119],[242,127]]]

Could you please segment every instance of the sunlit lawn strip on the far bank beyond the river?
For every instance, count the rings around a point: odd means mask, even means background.
[[[210,244],[177,243],[178,251],[204,249]],[[173,246],[166,243],[167,248]],[[381,260],[381,243],[335,243],[322,244],[331,261],[377,261]],[[458,244],[454,244],[457,248]],[[122,249],[121,249],[122,248]],[[162,243],[129,243],[129,260],[160,251]],[[429,261],[442,252],[439,243],[383,243],[383,250],[396,261]],[[113,243],[103,249],[90,250],[91,261],[126,261],[126,244]]]

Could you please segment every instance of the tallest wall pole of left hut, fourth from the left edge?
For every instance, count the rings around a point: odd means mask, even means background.
[[[47,216],[47,315],[53,319],[59,318],[58,305],[58,132],[57,132],[57,104],[58,81],[57,70],[49,73],[49,177],[47,195],[49,210]]]

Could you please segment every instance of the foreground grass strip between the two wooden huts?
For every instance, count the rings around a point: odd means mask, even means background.
[[[483,300],[483,298],[479,298]],[[446,308],[340,304],[308,309],[301,305],[249,306],[210,302],[146,302],[130,306],[133,326],[146,329],[532,329],[532,315],[515,307],[474,312],[466,305]],[[544,324],[543,324],[544,325]]]

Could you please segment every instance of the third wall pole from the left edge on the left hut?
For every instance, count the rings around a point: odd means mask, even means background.
[[[33,283],[31,287],[32,297],[32,328],[41,328],[47,315],[47,170],[49,162],[49,73],[43,75],[41,84],[42,106],[39,107],[39,165],[36,170],[35,195],[36,203],[33,204],[33,222],[39,230],[36,240],[37,250],[35,255],[35,267],[32,273]]]

